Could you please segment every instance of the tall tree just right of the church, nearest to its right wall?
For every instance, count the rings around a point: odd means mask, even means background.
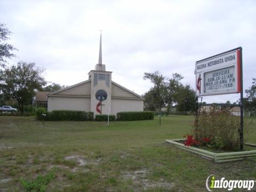
[[[149,79],[151,83],[154,84],[148,95],[150,95],[152,101],[155,102],[155,109],[161,113],[161,108],[165,106],[165,99],[167,95],[165,77],[159,74],[158,71],[155,71],[154,73],[145,73],[143,79]]]

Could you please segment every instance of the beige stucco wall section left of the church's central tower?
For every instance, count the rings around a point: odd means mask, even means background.
[[[71,97],[49,97],[48,111],[52,110],[83,110],[91,111],[90,98],[71,98]]]

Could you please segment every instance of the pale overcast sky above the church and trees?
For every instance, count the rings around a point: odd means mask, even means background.
[[[179,73],[195,88],[195,62],[243,47],[244,90],[251,86],[256,57],[256,1],[14,1],[0,0],[0,22],[12,31],[19,60],[45,68],[61,85],[88,79],[99,57],[113,81],[138,94],[152,84],[145,72]],[[207,96],[231,102],[239,94]]]

